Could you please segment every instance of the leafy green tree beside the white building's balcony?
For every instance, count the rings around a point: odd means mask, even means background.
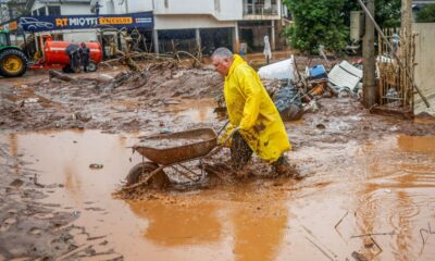
[[[320,45],[339,51],[346,46],[348,29],[344,25],[344,0],[284,0],[294,24],[285,29],[291,46],[314,53]]]

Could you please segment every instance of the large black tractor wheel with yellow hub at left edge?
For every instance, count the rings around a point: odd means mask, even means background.
[[[4,77],[20,77],[27,70],[26,55],[16,49],[0,52],[0,74]]]

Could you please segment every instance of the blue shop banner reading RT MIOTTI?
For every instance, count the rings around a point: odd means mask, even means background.
[[[22,16],[18,27],[25,32],[47,32],[62,29],[89,29],[101,27],[147,28],[154,26],[152,12],[111,15],[48,15]]]

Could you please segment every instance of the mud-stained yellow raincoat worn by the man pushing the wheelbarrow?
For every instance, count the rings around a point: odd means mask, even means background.
[[[238,126],[252,151],[268,162],[276,161],[284,151],[290,150],[275,104],[257,72],[237,54],[225,77],[224,96],[231,124],[223,138]]]

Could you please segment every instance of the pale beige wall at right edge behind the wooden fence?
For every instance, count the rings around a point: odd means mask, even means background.
[[[414,113],[428,112],[435,115],[435,23],[415,23],[412,25],[415,37],[414,80],[428,100],[427,109],[418,94],[414,95]]]

